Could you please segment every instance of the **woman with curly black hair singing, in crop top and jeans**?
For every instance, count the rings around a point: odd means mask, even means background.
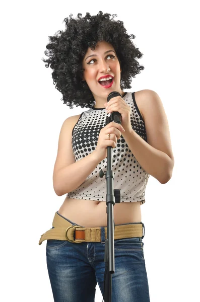
[[[97,282],[104,292],[106,180],[99,171],[106,172],[107,146],[113,147],[114,189],[121,190],[121,202],[113,207],[112,301],[150,301],[141,205],[149,176],[168,182],[174,158],[157,93],[124,92],[144,69],[136,60],[142,53],[123,22],[110,16],[71,15],[64,20],[66,30],[50,37],[46,46],[49,59],[44,61],[54,70],[63,103],[71,109],[72,104],[89,108],[62,124],[53,187],[58,196],[68,195],[54,215],[52,229],[39,241],[47,240],[47,268],[56,302],[92,302]],[[121,96],[107,102],[112,91]],[[105,125],[114,111],[121,114],[121,125],[113,121]]]

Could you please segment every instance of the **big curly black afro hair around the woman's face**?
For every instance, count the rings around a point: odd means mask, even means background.
[[[55,88],[61,92],[63,104],[81,108],[92,108],[95,105],[94,97],[85,81],[83,81],[83,58],[90,47],[92,50],[99,41],[110,43],[117,54],[120,68],[121,90],[131,88],[131,78],[140,73],[145,67],[140,65],[136,58],[143,53],[135,47],[130,39],[136,36],[128,35],[122,21],[115,21],[117,15],[103,14],[101,11],[95,16],[86,13],[78,14],[73,19],[72,14],[65,18],[65,31],[57,31],[54,36],[48,36],[49,43],[44,53],[48,59],[42,60],[53,69],[52,78]]]

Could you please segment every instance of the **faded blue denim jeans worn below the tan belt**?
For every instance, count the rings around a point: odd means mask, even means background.
[[[150,302],[143,246],[141,237],[114,240],[113,302]],[[94,302],[97,282],[103,296],[104,251],[104,228],[101,242],[47,240],[47,268],[55,302]]]

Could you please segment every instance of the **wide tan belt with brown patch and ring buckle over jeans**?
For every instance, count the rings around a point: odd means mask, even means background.
[[[74,225],[68,220],[62,218],[55,212],[53,222],[53,229],[48,230],[41,235],[39,245],[44,240],[56,239],[70,241],[74,243],[82,242],[101,242],[101,228],[84,228],[80,225]],[[105,238],[107,238],[107,228],[105,229]],[[145,234],[144,234],[145,236]],[[143,223],[122,224],[115,225],[114,239],[144,237],[143,236]]]

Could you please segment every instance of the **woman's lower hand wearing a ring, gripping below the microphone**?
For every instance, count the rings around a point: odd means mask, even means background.
[[[121,136],[121,131],[124,132],[125,130],[120,124],[115,122],[110,122],[100,130],[97,146],[94,150],[94,153],[99,158],[100,162],[107,157],[108,146],[113,148],[116,147],[117,139]],[[110,138],[108,136],[109,133]]]

